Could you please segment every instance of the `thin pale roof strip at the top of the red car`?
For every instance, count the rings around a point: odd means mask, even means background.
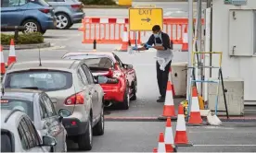
[[[109,53],[109,52],[76,52],[76,53],[65,53],[62,58],[66,57],[66,56],[71,56],[71,55],[83,55],[83,54],[95,54],[95,55],[104,55],[104,56],[108,56],[109,58],[111,58],[111,60],[113,62],[116,62],[116,59],[114,57],[113,53]]]

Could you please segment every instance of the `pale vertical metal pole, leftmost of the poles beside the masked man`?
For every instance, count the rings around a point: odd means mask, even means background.
[[[188,0],[188,67],[191,67],[193,52],[193,0]],[[189,100],[191,68],[187,69],[186,100]]]

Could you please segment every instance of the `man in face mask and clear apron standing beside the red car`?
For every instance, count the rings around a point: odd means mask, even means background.
[[[173,41],[170,41],[170,37],[167,33],[161,31],[159,25],[155,25],[152,28],[153,34],[149,37],[146,44],[141,48],[133,47],[134,50],[144,51],[149,48],[157,50],[157,79],[160,90],[160,97],[157,102],[164,102],[169,69],[173,60]],[[152,46],[154,44],[154,46]]]

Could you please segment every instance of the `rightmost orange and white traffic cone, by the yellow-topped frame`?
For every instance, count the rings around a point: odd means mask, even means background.
[[[203,125],[198,102],[197,87],[192,88],[191,111],[188,119],[188,125]]]

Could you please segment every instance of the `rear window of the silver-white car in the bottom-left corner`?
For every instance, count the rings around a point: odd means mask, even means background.
[[[14,152],[14,140],[10,132],[1,129],[1,152]]]

